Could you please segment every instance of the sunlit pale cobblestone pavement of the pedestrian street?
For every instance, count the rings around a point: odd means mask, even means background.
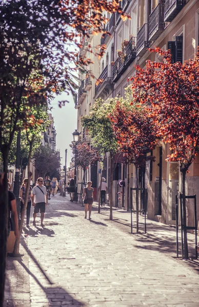
[[[22,260],[8,259],[5,307],[198,307],[199,276],[174,258],[172,228],[147,221],[146,235],[130,235],[128,212],[109,221],[95,205],[88,221],[68,195],[46,211],[44,229],[38,217],[24,228]]]

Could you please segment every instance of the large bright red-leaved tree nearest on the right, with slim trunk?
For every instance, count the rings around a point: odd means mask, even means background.
[[[146,106],[157,136],[169,143],[168,161],[178,161],[183,176],[184,256],[188,258],[185,179],[199,145],[199,53],[194,59],[172,63],[170,51],[150,50],[163,62],[147,61],[131,80],[133,99]]]

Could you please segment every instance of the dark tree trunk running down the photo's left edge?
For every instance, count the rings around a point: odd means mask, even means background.
[[[7,229],[8,229],[8,150],[2,149],[4,161],[4,179],[0,182],[0,306],[4,302],[4,287],[6,278]],[[3,177],[3,176],[2,176]]]

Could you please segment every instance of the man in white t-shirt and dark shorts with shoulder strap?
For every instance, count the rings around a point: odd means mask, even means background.
[[[32,205],[34,207],[33,212],[33,226],[36,226],[36,214],[39,212],[41,213],[41,226],[44,227],[44,213],[46,211],[46,206],[48,204],[48,196],[46,187],[43,185],[44,180],[43,178],[37,179],[38,185],[35,186],[32,190]]]

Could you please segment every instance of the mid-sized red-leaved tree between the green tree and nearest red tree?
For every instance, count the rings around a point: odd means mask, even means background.
[[[136,168],[145,166],[146,149],[154,149],[157,145],[156,129],[152,119],[148,116],[145,106],[137,103],[126,91],[125,99],[120,98],[113,112],[109,115],[115,138],[120,152],[127,157],[128,163],[133,163]],[[154,160],[154,157],[151,157]],[[127,183],[127,198],[129,198],[129,176]],[[138,175],[136,176],[138,188]],[[136,196],[136,210],[138,210],[138,197]],[[137,212],[138,232],[138,212]]]

